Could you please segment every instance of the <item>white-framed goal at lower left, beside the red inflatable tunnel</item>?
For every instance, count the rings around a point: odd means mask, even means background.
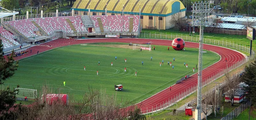
[[[16,97],[24,98],[25,96],[27,96],[27,98],[32,98],[32,99],[37,97],[37,90],[35,89],[26,89],[26,88],[15,88],[15,89],[19,89],[19,92],[16,95]]]

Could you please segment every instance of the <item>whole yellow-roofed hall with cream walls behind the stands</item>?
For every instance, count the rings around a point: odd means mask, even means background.
[[[140,15],[144,29],[169,29],[175,13],[185,17],[186,8],[179,0],[76,0],[74,15]]]

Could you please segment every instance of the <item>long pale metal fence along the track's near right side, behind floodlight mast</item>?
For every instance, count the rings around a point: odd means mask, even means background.
[[[202,80],[203,81],[202,86],[206,86],[206,85],[210,84],[212,81],[214,81],[214,80],[218,79],[219,77],[223,76],[225,73],[242,66],[244,63],[248,62],[249,60],[250,60],[250,58],[247,57],[247,58],[245,58],[245,59],[243,59],[239,62],[234,63],[231,66],[228,66],[226,69],[222,69],[222,70],[216,72],[214,75],[209,76],[206,79]],[[195,85],[191,86],[188,89],[182,91],[181,93],[176,94],[176,96],[174,96],[173,98],[171,98],[169,100],[165,100],[161,103],[158,103],[157,105],[152,106],[150,108],[147,108],[147,110],[143,110],[143,111],[141,111],[141,113],[148,115],[148,114],[154,114],[154,113],[157,113],[157,112],[161,112],[164,109],[174,105],[175,103],[179,102],[180,100],[186,98],[187,96],[193,94],[196,91],[197,91],[197,86],[195,86]]]

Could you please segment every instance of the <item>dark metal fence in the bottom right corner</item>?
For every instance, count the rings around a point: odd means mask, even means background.
[[[246,103],[243,103],[236,109],[234,109],[232,112],[230,112],[227,116],[221,118],[220,120],[232,120],[233,118],[236,118],[240,113],[242,113],[246,108],[250,106],[250,101],[248,100]]]

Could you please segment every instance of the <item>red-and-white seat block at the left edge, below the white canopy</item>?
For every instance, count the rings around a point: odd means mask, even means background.
[[[15,38],[15,36],[11,32],[5,30],[3,27],[0,27],[0,34],[3,41],[4,49],[19,45],[19,43],[13,39]]]

